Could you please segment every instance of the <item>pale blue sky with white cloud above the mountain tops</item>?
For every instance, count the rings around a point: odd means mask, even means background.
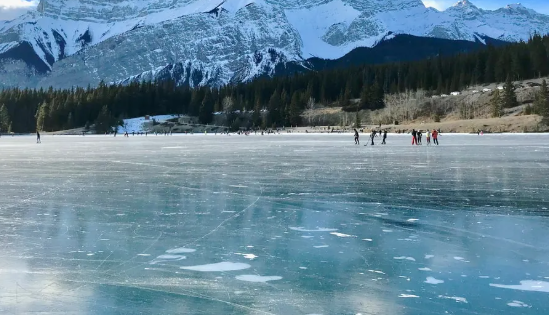
[[[11,20],[25,13],[34,10],[39,0],[0,0],[0,20]],[[55,1],[55,0],[52,0]],[[458,0],[422,0],[426,6],[444,10],[452,6]],[[513,3],[517,0],[470,0],[477,7],[483,9],[498,9]],[[520,0],[519,0],[520,1]],[[549,0],[522,0],[525,7],[534,9],[540,13],[549,14]]]

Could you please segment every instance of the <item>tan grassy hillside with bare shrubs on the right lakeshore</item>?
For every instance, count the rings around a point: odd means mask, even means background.
[[[527,113],[527,107],[534,105],[542,80],[549,77],[513,82],[516,87],[519,106],[504,109],[502,117],[492,117],[490,101],[496,90],[504,83],[483,84],[459,91],[455,95],[429,95],[423,91],[388,95],[386,107],[379,110],[359,112],[362,126],[366,129],[379,128],[392,132],[415,129],[441,129],[445,132],[547,132],[549,125],[542,117]],[[353,100],[358,102],[358,99]],[[335,105],[335,104],[332,104]],[[435,118],[438,115],[438,119]],[[355,113],[344,112],[341,107],[323,106],[306,110],[303,121],[308,131],[320,132],[326,126],[350,129],[354,126]],[[438,122],[436,120],[439,120]],[[398,122],[395,125],[394,122]],[[323,126],[311,128],[311,126]]]

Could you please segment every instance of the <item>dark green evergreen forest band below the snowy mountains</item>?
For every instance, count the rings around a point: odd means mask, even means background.
[[[252,112],[251,126],[270,128],[301,123],[315,102],[344,110],[377,109],[384,95],[407,90],[448,94],[471,85],[523,80],[549,74],[549,36],[528,42],[435,57],[419,62],[364,65],[348,69],[260,78],[221,88],[136,82],[74,89],[5,89],[0,92],[0,132],[54,131],[96,125],[111,129],[120,119],[156,114],[188,114],[211,123],[214,112]],[[360,99],[359,102],[351,101]],[[260,114],[262,110],[264,115]],[[234,117],[233,117],[234,118]],[[237,119],[237,118],[234,118]],[[237,127],[234,121],[227,122]]]

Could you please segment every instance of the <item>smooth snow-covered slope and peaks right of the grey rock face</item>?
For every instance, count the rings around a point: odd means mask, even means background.
[[[288,21],[303,39],[303,57],[340,58],[356,47],[375,45],[389,33],[470,41],[480,36],[519,41],[534,32],[549,33],[549,17],[521,5],[488,11],[462,0],[440,12],[412,0],[400,5],[392,1],[390,6],[377,2],[359,11],[356,2],[332,0],[286,10]]]

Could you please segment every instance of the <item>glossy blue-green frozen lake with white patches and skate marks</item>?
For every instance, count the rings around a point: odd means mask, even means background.
[[[2,137],[0,313],[548,314],[549,136],[409,143]]]

